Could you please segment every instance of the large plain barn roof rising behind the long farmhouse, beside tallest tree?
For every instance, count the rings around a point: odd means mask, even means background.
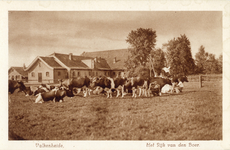
[[[106,50],[96,52],[84,52],[81,56],[101,57],[104,58],[112,70],[126,69],[125,61],[130,55],[128,49]],[[115,60],[115,62],[114,62]]]

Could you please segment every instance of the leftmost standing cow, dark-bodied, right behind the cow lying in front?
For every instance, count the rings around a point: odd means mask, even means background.
[[[61,86],[68,88],[72,92],[73,92],[74,88],[78,88],[78,89],[80,88],[83,90],[83,97],[86,97],[88,93],[90,95],[90,91],[91,91],[91,90],[89,90],[90,82],[91,81],[87,76],[77,77],[77,78],[73,78],[73,79],[61,80]]]

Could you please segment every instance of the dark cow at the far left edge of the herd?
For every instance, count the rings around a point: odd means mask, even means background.
[[[22,81],[9,80],[8,83],[9,83],[8,92],[10,92],[11,94],[13,94],[16,89],[19,89],[18,92],[23,91],[26,94],[25,92],[26,86]]]

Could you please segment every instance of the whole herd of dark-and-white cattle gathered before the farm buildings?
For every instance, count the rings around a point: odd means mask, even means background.
[[[116,93],[116,97],[124,97],[127,93],[132,93],[132,97],[139,96],[157,96],[161,93],[174,92],[174,83],[188,82],[186,76],[178,76],[171,79],[162,77],[151,77],[150,79],[143,79],[141,77],[132,78],[110,78],[106,76],[88,78],[79,77],[74,79],[60,80],[58,86],[41,84],[38,87],[29,86],[26,87],[22,81],[9,80],[9,92],[12,94],[16,89],[25,93],[25,95],[37,96],[35,103],[42,103],[44,101],[53,100],[62,102],[65,96],[74,97],[83,92],[83,96],[86,97],[93,94],[104,93],[107,98],[112,98],[113,93]],[[171,87],[171,88],[164,88]]]

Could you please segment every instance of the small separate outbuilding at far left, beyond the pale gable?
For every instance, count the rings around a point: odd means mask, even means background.
[[[20,80],[27,82],[28,73],[24,71],[23,67],[10,67],[8,70],[10,80]]]

